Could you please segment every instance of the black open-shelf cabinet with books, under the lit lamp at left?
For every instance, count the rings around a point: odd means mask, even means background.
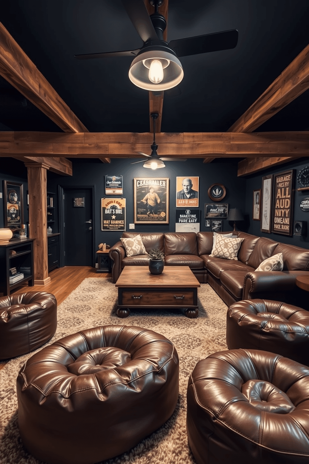
[[[34,285],[33,238],[13,238],[0,245],[0,295],[20,285]]]

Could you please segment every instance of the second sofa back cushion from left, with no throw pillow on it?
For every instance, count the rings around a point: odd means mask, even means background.
[[[165,255],[197,255],[195,232],[165,232]]]

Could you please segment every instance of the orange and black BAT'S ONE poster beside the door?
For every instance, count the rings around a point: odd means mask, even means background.
[[[101,198],[101,230],[126,230],[125,198]]]

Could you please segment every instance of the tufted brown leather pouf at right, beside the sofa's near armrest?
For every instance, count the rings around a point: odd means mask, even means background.
[[[227,310],[227,347],[281,354],[309,364],[309,311],[271,300],[244,300]]]

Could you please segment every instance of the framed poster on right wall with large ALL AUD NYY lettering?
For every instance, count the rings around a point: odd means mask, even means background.
[[[295,169],[274,174],[274,197],[271,214],[271,232],[283,235],[293,233],[293,183]]]

